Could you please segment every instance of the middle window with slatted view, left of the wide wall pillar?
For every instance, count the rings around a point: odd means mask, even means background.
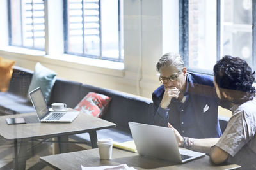
[[[65,53],[122,62],[121,0],[65,0]]]

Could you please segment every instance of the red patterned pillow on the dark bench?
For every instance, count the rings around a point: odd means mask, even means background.
[[[102,117],[104,109],[111,101],[111,97],[103,94],[89,92],[84,98],[77,104],[75,110],[81,113],[87,113],[93,117]]]

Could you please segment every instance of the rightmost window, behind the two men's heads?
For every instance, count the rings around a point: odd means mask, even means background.
[[[212,74],[214,64],[224,55],[239,56],[255,69],[254,3],[252,0],[180,1],[180,53],[190,71]]]

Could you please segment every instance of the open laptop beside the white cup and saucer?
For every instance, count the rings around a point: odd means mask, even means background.
[[[40,122],[73,122],[77,115],[79,115],[79,111],[50,112],[40,87],[29,92],[29,97]]]

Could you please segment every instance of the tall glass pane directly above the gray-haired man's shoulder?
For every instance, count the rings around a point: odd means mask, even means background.
[[[216,1],[189,0],[189,68],[216,63]]]

